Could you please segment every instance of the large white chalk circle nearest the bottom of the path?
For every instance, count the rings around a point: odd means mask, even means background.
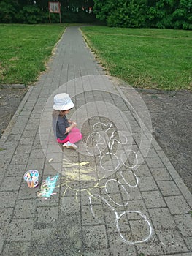
[[[123,232],[123,233],[120,232],[119,221],[121,219],[121,221],[124,223],[122,218],[126,218],[126,214],[128,215],[128,214],[133,214],[133,213],[137,214],[137,215],[139,214],[139,216],[142,219],[142,222],[139,222],[139,219],[132,220],[132,222],[135,222],[134,227],[131,228],[132,236],[138,237],[138,234],[142,233],[141,230],[144,231],[143,233],[146,233],[146,235],[145,235],[145,237],[140,237],[139,239],[130,241],[125,237],[125,235],[124,235],[125,232]],[[123,213],[121,213],[119,216],[118,216],[118,213],[115,212],[115,215],[117,216],[116,227],[117,227],[118,233],[120,234],[120,237],[123,239],[123,241],[126,244],[142,244],[150,239],[150,237],[152,235],[152,227],[151,227],[150,222],[147,219],[147,217],[144,214],[142,214],[140,211],[123,211]],[[139,225],[137,225],[138,223],[139,223]],[[137,230],[134,230],[134,228],[136,228],[136,227],[137,227]]]

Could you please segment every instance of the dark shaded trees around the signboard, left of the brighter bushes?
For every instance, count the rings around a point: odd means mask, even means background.
[[[1,0],[0,23],[49,23],[48,0]],[[60,0],[63,23],[96,21],[93,0]],[[59,15],[51,13],[51,23],[59,23]]]

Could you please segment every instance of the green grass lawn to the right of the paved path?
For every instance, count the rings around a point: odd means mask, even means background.
[[[134,87],[192,89],[192,31],[81,28],[110,75]]]

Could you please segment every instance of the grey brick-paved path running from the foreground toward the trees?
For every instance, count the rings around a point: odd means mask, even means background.
[[[139,94],[126,98],[121,83],[67,28],[0,139],[0,255],[191,256],[191,193],[151,137]],[[53,96],[64,91],[83,134],[77,151],[53,136]],[[23,181],[31,169],[34,189]]]

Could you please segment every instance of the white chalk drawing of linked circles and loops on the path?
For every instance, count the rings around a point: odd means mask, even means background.
[[[126,136],[124,136],[123,133],[121,133],[121,138],[123,138],[123,141],[118,140],[118,139],[115,138],[115,131],[112,131],[112,135],[110,137],[108,137],[106,132],[109,131],[110,129],[112,129],[112,124],[111,123],[104,124],[104,123],[99,123],[98,122],[98,123],[93,125],[93,130],[96,130],[96,126],[98,126],[98,125],[102,125],[102,127],[106,127],[107,129],[104,130],[104,132],[98,132],[98,131],[93,132],[88,137],[88,139],[86,140],[88,153],[92,154],[91,151],[90,151],[90,148],[88,146],[88,142],[95,141],[97,151],[99,151],[98,157],[100,157],[100,166],[101,166],[101,168],[106,170],[106,171],[109,171],[109,172],[114,171],[114,170],[118,170],[118,167],[120,166],[120,162],[122,162],[123,166],[128,169],[127,172],[131,173],[131,175],[134,176],[135,184],[130,184],[130,182],[128,182],[126,180],[125,176],[123,176],[123,172],[121,170],[119,171],[120,177],[122,178],[123,182],[126,185],[128,185],[128,187],[136,188],[139,185],[139,178],[134,173],[133,169],[135,167],[137,167],[137,165],[138,165],[137,153],[135,151],[131,150],[131,149],[127,149],[127,150],[123,151],[123,153],[120,154],[120,159],[119,159],[118,156],[115,155],[114,153],[112,153],[111,151],[113,149],[113,146],[115,145],[115,142],[119,143],[121,145],[126,145],[126,143],[128,141]],[[107,139],[108,139],[108,141],[107,141]],[[104,144],[108,145],[109,151],[107,153],[102,154],[100,146],[104,145]],[[132,159],[132,162],[131,162],[131,160],[128,159],[128,156],[131,156],[132,158],[134,158],[134,161]],[[108,167],[104,167],[103,162],[104,162],[105,157],[111,157],[111,158],[115,159],[115,162],[113,161],[112,165],[110,165]],[[124,191],[124,193],[126,195],[126,201],[125,202],[123,202],[123,203],[116,202],[110,196],[110,192],[108,191],[108,187],[109,187],[109,184],[112,183],[112,182],[115,182],[118,185],[118,187],[121,187],[122,192]],[[139,244],[139,243],[144,243],[148,239],[150,239],[150,237],[152,236],[152,233],[153,233],[153,229],[152,229],[152,226],[150,225],[149,220],[145,216],[145,214],[143,214],[141,211],[136,211],[136,210],[122,211],[120,213],[119,211],[115,211],[115,208],[109,203],[109,201],[110,201],[118,207],[121,206],[123,209],[124,209],[125,206],[128,206],[129,195],[128,195],[128,191],[126,190],[126,187],[123,186],[123,184],[120,181],[118,181],[114,178],[111,178],[111,179],[107,180],[106,183],[104,184],[104,189],[105,189],[106,195],[108,197],[108,200],[106,198],[104,198],[104,196],[101,196],[99,194],[93,194],[93,195],[89,196],[89,205],[90,205],[90,209],[91,209],[91,213],[93,214],[93,217],[99,221],[99,219],[96,217],[95,212],[93,211],[93,204],[92,204],[93,198],[99,197],[101,200],[104,201],[104,203],[107,204],[107,206],[109,206],[110,210],[112,212],[114,212],[114,214],[115,214],[115,226],[116,226],[116,228],[118,230],[118,233],[120,235],[120,238],[122,238],[123,242],[125,242],[126,244]],[[134,241],[130,241],[120,231],[119,222],[120,222],[120,219],[122,219],[123,217],[126,217],[126,216],[128,216],[128,214],[133,214],[133,213],[134,214],[139,214],[139,217],[141,217],[144,220],[145,226],[146,226],[146,232],[145,232],[145,237],[141,237],[140,239],[134,239]],[[143,226],[144,225],[142,225],[142,227]]]

